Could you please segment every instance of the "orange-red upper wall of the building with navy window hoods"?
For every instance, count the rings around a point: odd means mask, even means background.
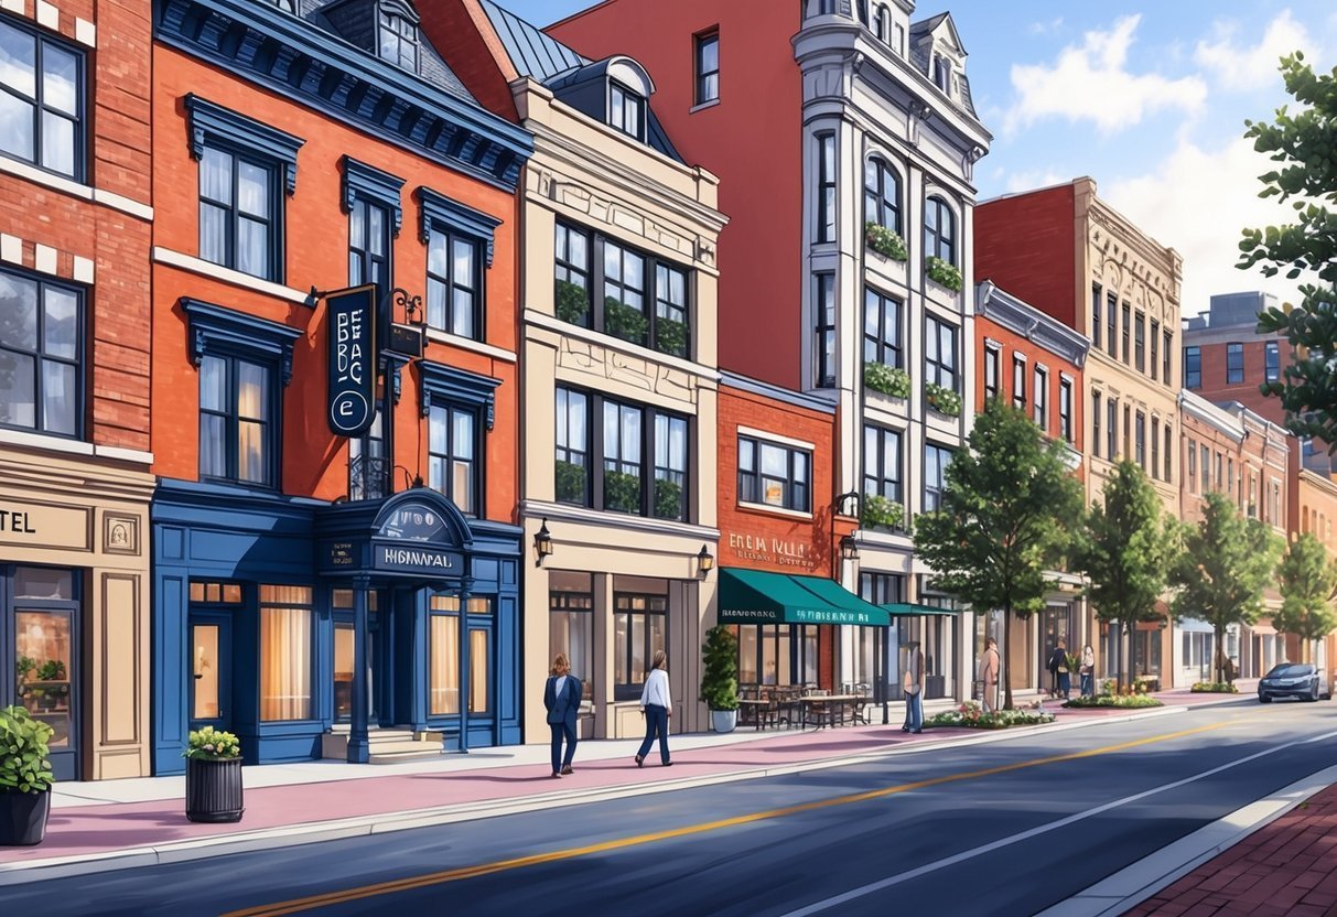
[[[182,98],[194,92],[205,99],[281,127],[306,140],[298,152],[297,192],[286,206],[286,285],[308,290],[348,285],[348,214],[340,206],[338,159],[349,154],[360,162],[405,179],[404,223],[393,239],[393,283],[410,293],[427,287],[427,246],[418,239],[418,205],[413,191],[428,186],[461,203],[500,218],[496,255],[485,271],[485,325],[488,344],[516,350],[516,199],[509,192],[453,172],[397,146],[350,128],[277,94],[242,82],[230,74],[197,61],[171,48],[155,45],[154,67],[154,172],[155,195],[178,202],[162,207],[155,225],[155,245],[197,255],[199,163],[186,144],[186,112]],[[154,471],[164,477],[198,477],[199,377],[187,350],[186,317],[180,297],[246,311],[302,329],[293,361],[293,382],[283,392],[285,493],[332,500],[348,489],[348,442],[329,432],[325,420],[325,310],[314,311],[265,293],[215,281],[170,265],[154,265]],[[484,433],[485,501],[489,519],[513,520],[519,487],[516,365],[501,358],[443,344],[428,348],[435,362],[459,366],[501,380],[496,390],[495,429]],[[409,473],[427,477],[427,420],[418,409],[418,377],[414,369],[402,377],[402,397],[394,412],[394,463]],[[394,487],[404,489],[402,472]]]

